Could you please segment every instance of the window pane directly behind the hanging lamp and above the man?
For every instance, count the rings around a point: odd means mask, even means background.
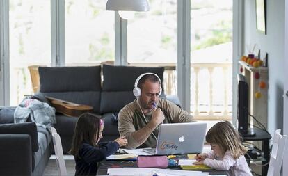
[[[164,66],[166,94],[177,94],[177,0],[152,0],[150,11],[136,13],[127,24],[127,62]]]

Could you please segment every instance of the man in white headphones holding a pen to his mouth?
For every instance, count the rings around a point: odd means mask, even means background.
[[[162,88],[157,74],[141,74],[134,87],[136,99],[118,115],[118,131],[128,141],[125,147],[156,147],[161,123],[196,122],[173,102],[159,98]]]

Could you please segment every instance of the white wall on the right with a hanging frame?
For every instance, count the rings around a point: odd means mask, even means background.
[[[257,44],[261,51],[269,54],[268,131],[270,134],[273,134],[277,128],[283,128],[284,4],[285,0],[267,0],[266,35],[264,35],[256,30],[255,1],[245,0],[244,2],[244,46]],[[247,49],[244,54],[248,54]]]

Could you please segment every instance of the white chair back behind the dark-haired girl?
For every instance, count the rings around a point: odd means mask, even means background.
[[[64,161],[61,138],[54,127],[51,127],[51,133],[52,133],[52,138],[53,138],[56,164],[58,167],[58,175],[66,176],[67,170],[66,170],[65,161]]]

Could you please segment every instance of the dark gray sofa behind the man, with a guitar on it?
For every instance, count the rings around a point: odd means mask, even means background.
[[[119,137],[118,112],[135,99],[132,93],[134,82],[145,72],[158,74],[163,80],[163,67],[39,67],[39,94],[93,106],[93,113],[104,119],[102,141],[113,141]],[[166,97],[164,93],[161,96]],[[54,127],[61,136],[65,153],[70,150],[77,119],[56,114]]]

